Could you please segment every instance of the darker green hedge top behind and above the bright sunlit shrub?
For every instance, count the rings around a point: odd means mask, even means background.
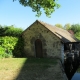
[[[22,32],[23,30],[21,28],[15,28],[13,25],[0,27],[0,36],[19,37]]]

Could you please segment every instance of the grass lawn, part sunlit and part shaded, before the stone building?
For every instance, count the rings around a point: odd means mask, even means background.
[[[47,58],[0,59],[0,80],[51,80],[55,65],[56,59]]]

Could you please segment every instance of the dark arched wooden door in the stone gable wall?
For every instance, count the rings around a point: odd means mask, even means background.
[[[42,58],[43,53],[42,53],[42,41],[40,39],[37,39],[35,41],[35,52],[36,52],[36,57]]]

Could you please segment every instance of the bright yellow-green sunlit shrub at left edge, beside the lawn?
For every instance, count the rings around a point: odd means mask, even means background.
[[[16,37],[0,37],[0,57],[12,57],[12,50],[17,41]]]

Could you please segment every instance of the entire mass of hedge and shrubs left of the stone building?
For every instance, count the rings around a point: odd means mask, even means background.
[[[21,57],[22,38],[21,28],[0,25],[0,57]]]

